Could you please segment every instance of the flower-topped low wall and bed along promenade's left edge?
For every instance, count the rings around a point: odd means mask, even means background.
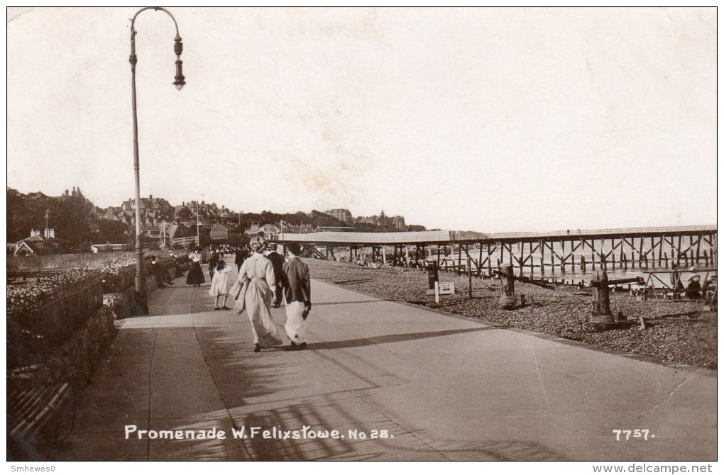
[[[159,266],[175,277],[174,262]],[[146,273],[146,297],[158,289]],[[117,328],[119,318],[142,314],[146,301],[134,288],[135,264],[98,268],[10,270],[7,294],[8,434],[32,445],[62,437],[75,402]],[[9,442],[10,445],[10,442]]]

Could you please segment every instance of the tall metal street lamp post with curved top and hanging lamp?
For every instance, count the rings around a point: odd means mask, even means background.
[[[141,235],[140,235],[140,176],[139,176],[139,166],[138,166],[138,116],[136,114],[136,95],[135,95],[135,65],[138,62],[138,59],[136,58],[135,54],[135,19],[138,17],[138,14],[140,12],[144,12],[146,10],[153,9],[161,12],[166,12],[169,17],[171,17],[171,20],[174,22],[174,26],[176,27],[176,38],[174,38],[174,53],[176,54],[176,76],[174,77],[174,86],[176,86],[177,90],[181,90],[181,88],[186,84],[184,81],[184,76],[182,73],[182,61],[181,61],[181,52],[183,51],[183,43],[181,43],[181,37],[179,35],[179,27],[176,24],[176,19],[174,19],[174,16],[167,10],[161,7],[145,7],[138,12],[136,12],[135,15],[133,15],[133,19],[131,20],[131,55],[128,61],[130,61],[131,64],[131,100],[132,100],[132,107],[133,107],[133,169],[135,171],[135,221],[136,221],[136,244],[135,244],[135,256],[136,256],[136,275],[135,275],[135,288],[138,294],[140,295],[142,300],[145,300],[146,296],[146,287],[144,285],[144,277],[143,277],[143,248],[141,247]]]

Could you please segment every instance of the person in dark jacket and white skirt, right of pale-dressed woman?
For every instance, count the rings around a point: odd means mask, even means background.
[[[293,350],[303,350],[306,342],[306,318],[312,308],[311,281],[309,268],[300,260],[299,244],[291,243],[287,247],[289,260],[284,263],[282,286],[284,287],[287,324],[285,330],[292,342]]]

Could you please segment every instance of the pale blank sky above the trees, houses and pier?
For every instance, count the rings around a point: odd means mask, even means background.
[[[119,206],[130,18],[10,9],[7,186]],[[716,9],[173,8],[135,22],[140,194],[481,232],[716,223]]]

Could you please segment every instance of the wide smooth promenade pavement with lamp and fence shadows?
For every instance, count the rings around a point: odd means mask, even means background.
[[[716,372],[707,369],[607,354],[320,281],[312,283],[307,348],[289,351],[286,342],[255,354],[246,314],[214,311],[208,282],[182,281],[151,296],[150,316],[119,321],[55,460],[717,457]],[[284,308],[273,314],[283,325]],[[224,430],[227,438],[139,439],[126,437],[130,425]],[[273,437],[251,437],[252,427]],[[304,427],[308,437],[337,430],[344,438],[278,438]],[[616,440],[615,429],[646,429],[647,440]]]

